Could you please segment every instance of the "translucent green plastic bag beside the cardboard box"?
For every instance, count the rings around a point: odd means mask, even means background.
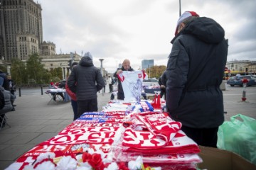
[[[240,154],[256,164],[256,120],[246,115],[233,115],[218,130],[219,149]]]

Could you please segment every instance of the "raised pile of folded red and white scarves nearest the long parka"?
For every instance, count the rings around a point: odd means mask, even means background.
[[[161,109],[151,110],[147,101],[140,102],[141,112],[133,112],[116,146],[112,146],[115,162],[129,162],[138,156],[145,164],[161,169],[196,169],[202,159],[200,149],[180,130],[181,123],[171,120]],[[138,106],[137,106],[138,107]]]

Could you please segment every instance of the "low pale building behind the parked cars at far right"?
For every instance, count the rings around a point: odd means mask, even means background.
[[[248,72],[251,74],[256,73],[256,61],[251,60],[234,60],[226,63],[226,67],[230,72]]]

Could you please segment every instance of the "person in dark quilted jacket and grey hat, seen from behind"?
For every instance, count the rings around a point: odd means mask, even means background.
[[[68,87],[76,94],[78,100],[79,117],[82,113],[97,111],[97,91],[103,86],[105,81],[100,69],[93,65],[90,52],[86,52],[68,77]]]

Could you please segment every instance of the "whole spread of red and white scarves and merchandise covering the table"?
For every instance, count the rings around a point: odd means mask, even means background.
[[[163,106],[157,101],[110,101],[100,112],[82,114],[8,169],[144,169],[146,164],[196,169],[202,162],[198,145]]]

